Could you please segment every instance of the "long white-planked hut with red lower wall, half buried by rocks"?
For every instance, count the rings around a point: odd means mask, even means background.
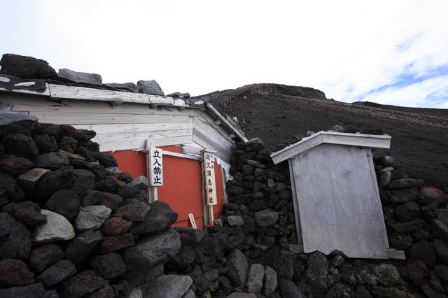
[[[232,145],[247,141],[232,120],[207,102],[102,85],[67,85],[1,74],[0,110],[34,115],[42,123],[93,130],[97,135],[92,141],[99,150],[113,155],[120,169],[134,178],[150,178],[148,149],[158,148],[163,185],[153,187],[151,194],[179,214],[174,226],[190,225],[193,214],[201,229],[220,215]],[[216,182],[213,209],[207,206],[204,190],[203,150],[216,157],[211,163]]]

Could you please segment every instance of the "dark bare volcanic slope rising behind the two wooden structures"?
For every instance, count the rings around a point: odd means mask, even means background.
[[[333,125],[342,125],[345,132],[388,134],[391,148],[377,149],[374,156],[391,155],[395,168],[406,169],[409,178],[423,178],[448,192],[448,109],[347,104],[314,88],[277,84],[246,85],[193,100],[207,100],[236,116],[246,137],[259,137],[270,150],[298,141],[308,130],[327,131]]]

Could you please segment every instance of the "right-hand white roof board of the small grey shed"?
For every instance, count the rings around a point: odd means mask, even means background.
[[[322,134],[323,143],[339,144],[349,146],[360,146],[367,148],[390,148],[391,137],[377,138],[377,137],[365,137],[362,134],[334,135],[334,134]]]

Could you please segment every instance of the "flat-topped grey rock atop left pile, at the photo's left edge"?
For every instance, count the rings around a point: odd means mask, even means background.
[[[0,112],[0,135],[1,134],[25,134],[31,136],[38,118],[10,112]]]

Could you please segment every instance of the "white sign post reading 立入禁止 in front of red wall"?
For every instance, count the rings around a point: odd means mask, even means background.
[[[163,185],[163,157],[162,149],[149,146],[149,140],[146,142],[147,155],[147,170],[148,182],[150,186],[150,201],[158,200],[158,186]]]

